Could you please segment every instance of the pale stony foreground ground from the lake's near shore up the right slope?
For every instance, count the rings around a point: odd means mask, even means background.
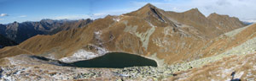
[[[227,80],[254,81],[256,38],[217,56],[162,67],[81,68],[55,66],[26,55],[9,57],[9,66],[0,66],[0,80]],[[25,60],[26,59],[26,60]],[[23,61],[23,62],[22,62]],[[28,63],[29,62],[29,63]],[[55,64],[55,65],[53,65]]]

